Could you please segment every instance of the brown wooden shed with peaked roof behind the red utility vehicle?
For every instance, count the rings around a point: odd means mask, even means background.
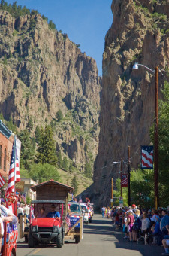
[[[67,214],[68,193],[72,193],[74,187],[69,187],[51,179],[30,187],[36,192],[36,200],[62,200],[65,202],[63,218]]]

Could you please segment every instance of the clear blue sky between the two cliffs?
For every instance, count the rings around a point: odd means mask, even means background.
[[[12,4],[14,0],[6,0]],[[104,37],[113,22],[112,0],[18,0],[17,5],[38,10],[67,33],[80,50],[94,58],[102,75]]]

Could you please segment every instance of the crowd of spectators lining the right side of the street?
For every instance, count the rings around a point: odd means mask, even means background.
[[[140,209],[135,204],[128,207],[102,207],[102,217],[112,218],[115,229],[122,229],[127,242],[163,245],[169,255],[169,206],[155,209]]]

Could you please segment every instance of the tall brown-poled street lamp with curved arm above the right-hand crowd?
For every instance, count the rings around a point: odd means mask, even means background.
[[[154,185],[155,185],[155,209],[158,209],[159,194],[158,194],[158,67],[155,70],[149,69],[143,64],[136,62],[133,69],[138,69],[138,66],[143,66],[155,74],[155,128],[154,128]]]

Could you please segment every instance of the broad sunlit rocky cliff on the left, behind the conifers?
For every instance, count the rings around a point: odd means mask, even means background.
[[[0,41],[3,116],[18,130],[32,120],[32,133],[52,123],[58,151],[83,169],[98,151],[101,78],[95,60],[40,14],[13,17],[0,10]]]

